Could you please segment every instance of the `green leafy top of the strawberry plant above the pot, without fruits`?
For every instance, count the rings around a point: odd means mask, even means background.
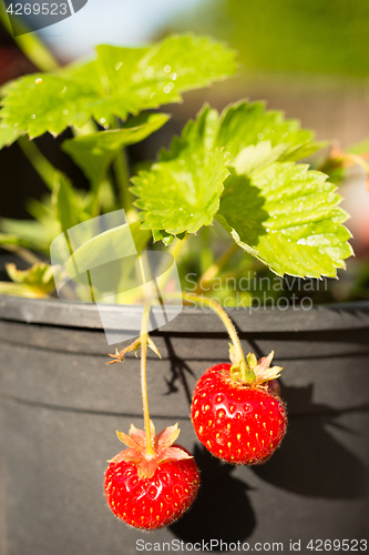
[[[342,225],[348,214],[327,175],[300,162],[322,143],[298,121],[262,102],[239,101],[221,114],[205,105],[148,169],[132,175],[127,168],[124,149],[168,120],[147,110],[178,102],[183,92],[235,69],[235,52],[225,46],[173,36],[145,48],[101,46],[93,61],[6,84],[0,147],[18,140],[50,194],[29,203],[34,220],[1,220],[1,244],[49,254],[60,232],[123,208],[154,243],[188,240],[217,222],[229,241],[278,275],[336,278],[351,254]],[[90,180],[88,192],[33,141],[68,128],[74,138],[62,149]]]

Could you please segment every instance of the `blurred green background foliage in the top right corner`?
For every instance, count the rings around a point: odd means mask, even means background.
[[[171,30],[239,50],[247,71],[369,75],[368,0],[205,0]]]

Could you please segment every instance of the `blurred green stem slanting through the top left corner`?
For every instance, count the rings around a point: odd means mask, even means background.
[[[27,58],[41,71],[54,71],[59,68],[59,63],[49,49],[39,39],[35,32],[30,32],[30,29],[23,22],[17,22],[18,32],[24,33],[18,37],[13,36],[12,28],[3,2],[0,1],[0,22],[11,38],[16,41],[21,51]]]

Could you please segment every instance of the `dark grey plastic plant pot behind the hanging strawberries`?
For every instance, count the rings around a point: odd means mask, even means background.
[[[135,307],[106,311],[124,311],[136,327]],[[288,433],[257,467],[223,464],[198,444],[192,392],[208,366],[227,361],[228,342],[214,313],[184,310],[152,334],[163,360],[148,354],[148,396],[157,430],[180,423],[203,485],[182,519],[148,534],[114,517],[103,493],[106,460],[122,450],[115,430],[143,424],[140,361],[104,365],[113,350],[93,305],[0,297],[6,555],[131,555],[137,539],[204,541],[204,553],[209,539],[240,542],[240,551],[256,542],[290,551],[300,541],[311,553],[310,539],[367,536],[369,303],[229,314],[246,351],[274,350],[285,367]]]

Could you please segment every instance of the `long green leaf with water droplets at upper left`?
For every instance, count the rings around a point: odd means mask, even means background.
[[[8,83],[1,117],[10,128],[38,137],[112,117],[180,102],[182,92],[235,71],[235,52],[204,37],[171,36],[147,48],[98,47],[98,59],[55,73]]]

